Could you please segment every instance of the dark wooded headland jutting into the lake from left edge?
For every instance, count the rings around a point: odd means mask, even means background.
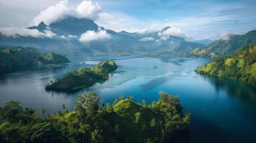
[[[25,69],[29,66],[70,62],[65,56],[54,53],[44,54],[34,48],[14,46],[0,47],[0,74]]]

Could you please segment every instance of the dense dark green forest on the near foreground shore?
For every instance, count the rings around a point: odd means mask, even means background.
[[[0,108],[0,142],[187,142],[190,114],[179,99],[160,92],[158,102],[133,102],[120,97],[101,104],[88,92],[78,97],[75,109],[42,116],[19,102]]]

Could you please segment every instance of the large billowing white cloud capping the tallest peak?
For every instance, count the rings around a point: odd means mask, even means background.
[[[92,1],[84,0],[76,8],[70,6],[68,2],[68,0],[63,0],[54,6],[49,6],[44,11],[40,11],[40,14],[33,19],[32,24],[37,25],[41,21],[46,24],[52,24],[52,22],[65,19],[68,16],[94,20],[98,18],[98,14],[101,11],[101,6],[97,3],[93,4]]]

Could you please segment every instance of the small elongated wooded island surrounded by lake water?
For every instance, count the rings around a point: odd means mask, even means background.
[[[66,74],[55,82],[47,84],[45,89],[56,91],[72,91],[90,87],[95,82],[103,82],[108,79],[108,74],[117,69],[115,61],[101,61],[93,68],[84,67]]]

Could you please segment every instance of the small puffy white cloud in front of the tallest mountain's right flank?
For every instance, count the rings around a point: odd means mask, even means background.
[[[79,41],[88,42],[100,39],[110,39],[110,34],[102,29],[99,29],[98,31],[86,31],[85,33],[81,34]]]

